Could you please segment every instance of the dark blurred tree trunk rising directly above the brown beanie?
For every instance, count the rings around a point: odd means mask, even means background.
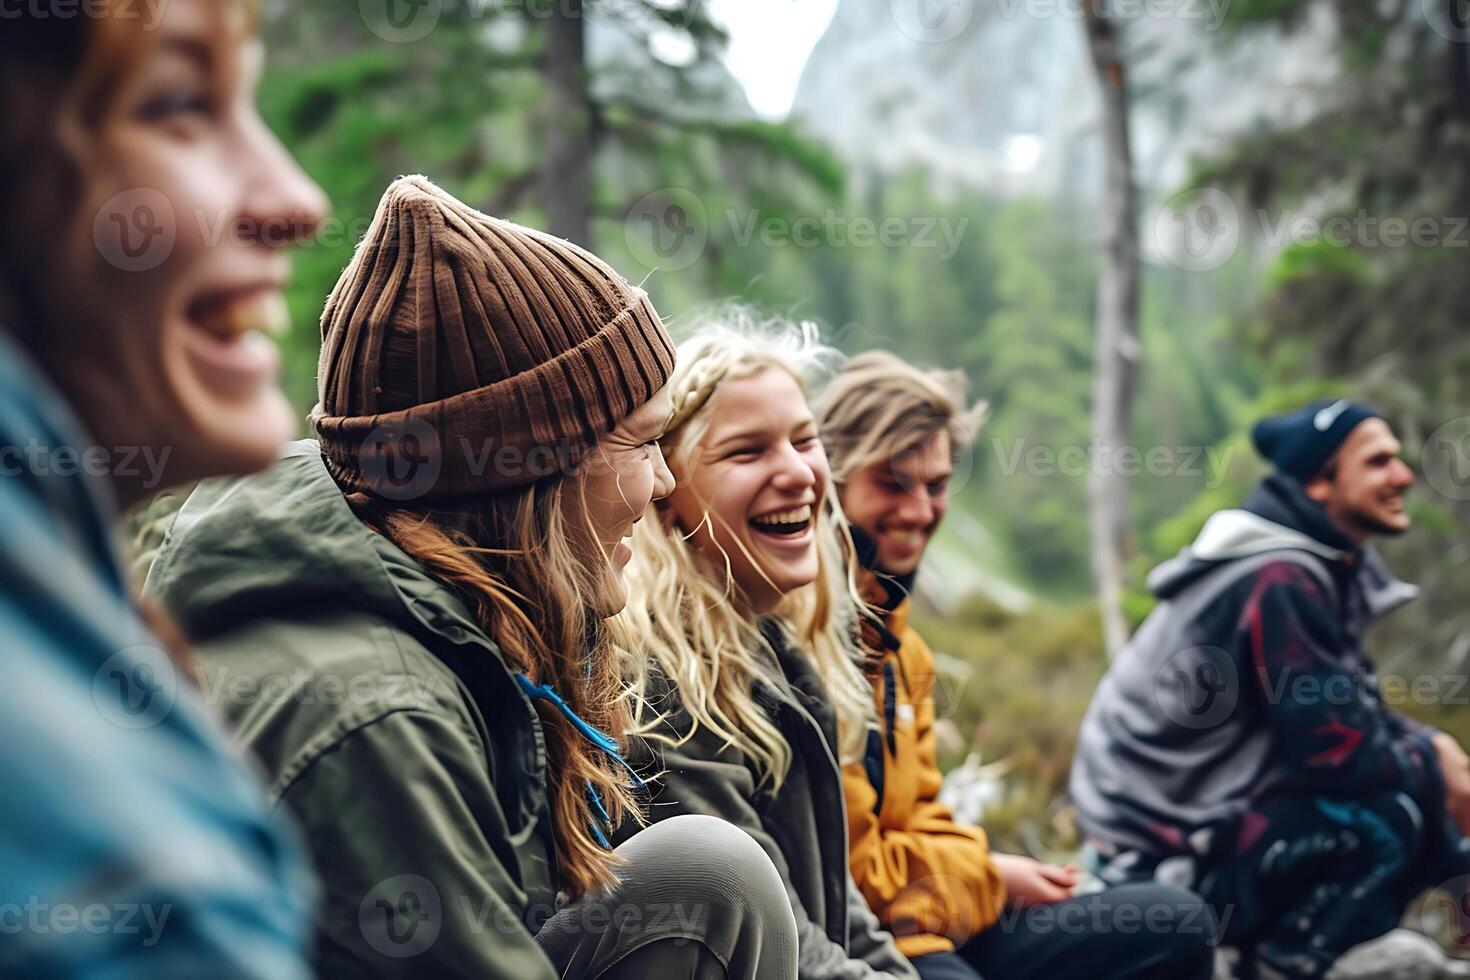
[[[541,207],[547,231],[592,247],[594,113],[587,96],[582,0],[551,0],[547,18],[547,145]]]

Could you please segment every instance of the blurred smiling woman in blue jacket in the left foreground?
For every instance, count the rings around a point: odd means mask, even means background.
[[[4,977],[307,976],[300,848],[113,544],[119,505],[291,436],[262,332],[326,203],[259,48],[235,0],[0,10]]]

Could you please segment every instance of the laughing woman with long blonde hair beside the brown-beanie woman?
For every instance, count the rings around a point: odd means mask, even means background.
[[[867,693],[804,395],[831,356],[739,311],[679,348],[662,439],[676,489],[634,533],[622,614],[651,664],[639,755],[660,771],[651,820],[723,817],[764,846],[803,979],[913,977],[848,876],[839,764],[861,751]]]

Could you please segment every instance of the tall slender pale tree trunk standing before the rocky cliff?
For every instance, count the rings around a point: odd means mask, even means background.
[[[1102,272],[1097,295],[1097,364],[1092,385],[1092,451],[1088,510],[1092,573],[1102,610],[1108,657],[1127,642],[1123,617],[1123,569],[1132,551],[1129,479],[1117,451],[1132,445],[1133,392],[1138,385],[1138,190],[1127,118],[1127,73],[1117,25],[1085,3],[1085,28],[1101,94],[1104,194]]]

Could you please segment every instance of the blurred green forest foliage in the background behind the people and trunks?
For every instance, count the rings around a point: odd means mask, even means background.
[[[303,416],[318,350],[310,325],[382,188],[422,172],[482,210],[542,223],[538,167],[548,126],[559,125],[544,110],[545,19],[534,9],[447,3],[428,40],[390,44],[356,6],[297,3],[265,22],[263,110],[335,206],[322,241],[298,254],[290,292],[298,328],[287,382]],[[682,31],[688,63],[664,63],[651,44],[634,43],[588,69],[588,244],[645,281],[675,329],[698,307],[736,297],[814,319],[848,351],[888,347],[960,367],[989,400],[989,423],[960,469],[957,508],[994,541],[991,572],[1038,602],[1013,613],[975,599],[923,627],[935,648],[978,666],[950,716],[961,736],[1016,763],[1016,795],[997,820],[1042,821],[1104,669],[1088,607],[1086,479],[1057,464],[1063,450],[1089,444],[1092,207],[1083,197],[939,198],[922,172],[848,173],[788,125],[731,116],[700,84],[722,35],[698,6],[650,4],[651,19],[632,29]],[[1214,43],[1298,29],[1311,6],[1239,0]],[[1198,160],[1191,185],[1226,188],[1248,216],[1308,207],[1322,217],[1470,215],[1470,100],[1455,46],[1419,18],[1417,3],[1407,6],[1414,10],[1335,4],[1345,68],[1320,112],[1288,129],[1247,132],[1217,159]],[[908,238],[858,241],[860,222],[885,220]],[[814,225],[841,232],[813,241],[798,231]],[[1258,414],[1323,394],[1370,398],[1395,413],[1416,466],[1432,432],[1470,416],[1464,251],[1364,242],[1272,251],[1244,238],[1239,254],[1208,273],[1145,267],[1136,445],[1166,450],[1169,463],[1133,480],[1135,621],[1151,605],[1147,570],[1263,473],[1245,436]],[[1470,554],[1458,529],[1470,514],[1423,488],[1414,516],[1419,527],[1392,544],[1391,558],[1426,585],[1426,599],[1395,620],[1385,657],[1401,671],[1463,670]]]

